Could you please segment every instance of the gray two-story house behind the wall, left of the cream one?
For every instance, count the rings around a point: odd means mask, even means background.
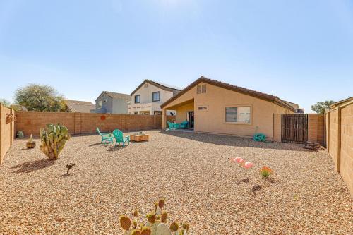
[[[95,113],[98,114],[126,114],[131,95],[104,91],[95,100]]]

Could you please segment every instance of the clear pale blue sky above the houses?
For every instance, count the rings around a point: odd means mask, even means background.
[[[0,97],[27,83],[72,100],[200,76],[297,102],[353,95],[346,0],[0,0]]]

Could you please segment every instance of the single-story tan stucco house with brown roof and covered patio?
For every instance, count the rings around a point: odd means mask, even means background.
[[[294,104],[294,103],[292,103]],[[294,106],[280,98],[201,77],[161,105],[162,128],[167,109],[175,121],[189,121],[195,132],[252,137],[264,133],[273,140],[274,114],[294,114]]]

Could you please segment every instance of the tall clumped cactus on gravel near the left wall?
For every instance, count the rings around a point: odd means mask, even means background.
[[[49,124],[47,130],[40,128],[40,150],[51,160],[59,158],[59,153],[63,150],[66,140],[70,139],[68,128],[60,125]]]

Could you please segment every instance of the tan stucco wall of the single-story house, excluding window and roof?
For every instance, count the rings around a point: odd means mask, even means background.
[[[201,85],[203,83],[199,83]],[[264,133],[270,140],[273,139],[273,114],[292,113],[273,102],[261,100],[250,95],[206,84],[206,93],[196,94],[196,86],[186,92],[167,107],[172,107],[187,100],[194,100],[196,132],[222,133],[229,135],[242,135],[252,137],[258,126],[258,132]],[[251,123],[234,124],[225,122],[225,107],[250,106]],[[208,111],[198,111],[198,106],[208,106]],[[177,120],[184,119],[185,114],[177,110]],[[179,117],[181,115],[182,117]],[[184,121],[183,120],[183,121]]]

